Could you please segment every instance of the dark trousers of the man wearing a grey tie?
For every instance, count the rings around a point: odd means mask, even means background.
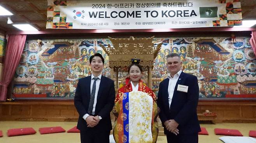
[[[109,143],[110,131],[91,128],[80,132],[81,143]]]

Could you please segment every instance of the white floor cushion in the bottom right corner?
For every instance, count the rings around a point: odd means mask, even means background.
[[[256,139],[248,136],[223,136],[219,140],[224,143],[256,143]]]

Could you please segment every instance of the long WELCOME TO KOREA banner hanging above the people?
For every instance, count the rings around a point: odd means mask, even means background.
[[[242,25],[240,0],[48,0],[47,29],[165,29]]]

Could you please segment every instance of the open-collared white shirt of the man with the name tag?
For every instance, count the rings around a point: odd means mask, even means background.
[[[177,72],[174,77],[172,78],[170,74],[168,74],[168,78],[169,78],[169,84],[168,84],[168,94],[169,94],[169,107],[171,106],[172,103],[172,97],[174,95],[174,89],[176,86],[176,83],[179,79],[179,76],[181,75],[182,70],[180,70],[179,72]]]

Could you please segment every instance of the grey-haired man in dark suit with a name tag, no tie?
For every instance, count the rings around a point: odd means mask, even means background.
[[[182,72],[179,54],[168,54],[166,60],[170,74],[159,85],[157,104],[167,142],[198,143],[201,129],[196,113],[199,98],[197,78]]]

